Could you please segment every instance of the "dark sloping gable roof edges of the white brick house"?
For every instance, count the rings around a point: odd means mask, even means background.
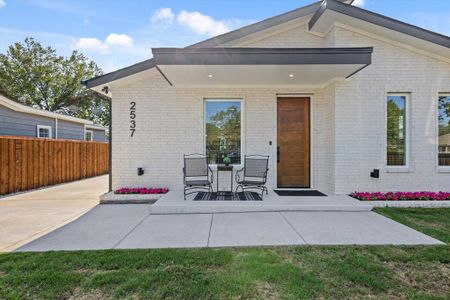
[[[392,19],[368,10],[361,9],[359,7],[351,6],[354,0],[322,0],[290,12],[277,15],[265,19],[263,21],[242,27],[240,29],[198,42],[196,44],[187,46],[186,48],[211,48],[217,47],[221,44],[243,38],[250,34],[266,30],[268,28],[286,23],[288,21],[294,20],[296,18],[304,17],[313,14],[309,22],[309,29],[312,29],[314,25],[318,22],[321,16],[326,10],[335,11],[338,13],[345,14],[356,19],[369,22],[381,27],[397,31],[439,46],[450,48],[450,37],[435,33],[408,23],[401,22],[396,19]],[[94,88],[103,84],[107,84],[111,81],[118,80],[148,69],[156,67],[153,59],[148,59],[143,62],[134,64],[123,69],[101,75],[86,81],[82,84],[87,88]]]

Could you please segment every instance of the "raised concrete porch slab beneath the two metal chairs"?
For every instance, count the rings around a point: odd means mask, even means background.
[[[182,191],[171,191],[152,207],[152,214],[202,214],[278,211],[370,211],[372,206],[346,195],[278,196],[274,191],[263,201],[193,201],[194,195],[183,200]]]

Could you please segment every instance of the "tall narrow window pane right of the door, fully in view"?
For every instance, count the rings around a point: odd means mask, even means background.
[[[406,96],[387,98],[387,164],[406,165]]]

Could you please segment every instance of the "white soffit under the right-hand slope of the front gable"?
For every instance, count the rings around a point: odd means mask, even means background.
[[[375,25],[373,23],[354,18],[330,9],[324,11],[320,18],[314,23],[311,28],[312,32],[320,35],[326,34],[335,23],[340,23],[356,28],[368,33],[380,36],[382,38],[390,39],[394,42],[410,45],[419,50],[430,52],[446,59],[450,59],[450,49],[438,44],[428,42],[426,40],[416,38],[414,36],[404,34],[389,28]]]

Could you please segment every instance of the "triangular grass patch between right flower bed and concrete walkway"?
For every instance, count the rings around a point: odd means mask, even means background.
[[[450,243],[450,208],[376,208],[374,211]]]

